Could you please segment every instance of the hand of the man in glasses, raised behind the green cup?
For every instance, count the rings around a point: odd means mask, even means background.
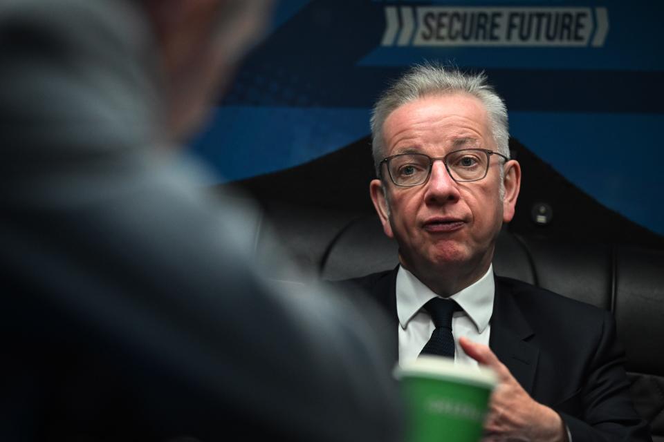
[[[465,354],[497,374],[484,423],[485,441],[566,441],[560,415],[533,400],[488,346],[463,337],[459,344]]]

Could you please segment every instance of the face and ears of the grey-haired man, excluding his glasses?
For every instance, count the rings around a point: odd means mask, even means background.
[[[383,136],[386,157],[409,152],[444,157],[461,148],[496,150],[483,104],[461,93],[400,106],[385,120]],[[443,162],[436,161],[425,184],[400,187],[382,167],[385,186],[380,180],[371,182],[371,198],[385,234],[399,244],[402,265],[430,287],[447,273],[461,278],[462,286],[486,273],[501,224],[513,217],[518,164],[510,161],[504,166],[503,200],[499,195],[503,160],[497,155],[490,157],[486,177],[475,182],[455,182]],[[453,286],[439,289],[463,288]]]

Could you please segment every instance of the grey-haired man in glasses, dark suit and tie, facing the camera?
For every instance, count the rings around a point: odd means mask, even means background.
[[[492,272],[521,171],[486,78],[416,66],[382,94],[371,130],[371,200],[400,265],[353,282],[398,323],[400,363],[424,352],[495,369],[491,440],[649,441],[609,313]]]

